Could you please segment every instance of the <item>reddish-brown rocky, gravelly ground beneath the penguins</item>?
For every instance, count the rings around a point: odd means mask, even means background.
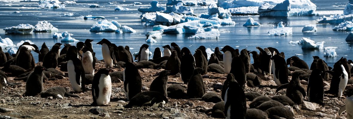
[[[96,64],[96,68],[103,67],[103,64]],[[59,70],[59,68],[57,68]],[[123,69],[114,69],[122,71]],[[98,70],[96,70],[98,71]],[[153,75],[162,70],[139,69],[142,79],[143,91],[148,91],[152,80],[156,77]],[[65,74],[65,72],[62,72]],[[222,85],[226,79],[226,74],[217,74],[208,72],[204,75],[204,82],[207,91],[216,92],[221,95]],[[160,107],[143,107],[126,109],[128,101],[125,98],[124,84],[122,82],[112,84],[112,96],[110,97],[110,106],[96,107],[92,106],[91,91],[84,93],[75,93],[80,97],[64,97],[64,99],[41,98],[40,96],[27,97],[23,96],[25,92],[25,82],[13,80],[9,77],[8,81],[14,83],[11,87],[0,90],[0,118],[1,116],[11,116],[13,118],[133,118],[133,119],[210,119],[210,115],[200,113],[201,108],[212,108],[214,103],[206,103],[204,101],[189,101],[185,99],[170,99],[169,102]],[[251,88],[246,86],[248,92],[258,92],[268,97],[274,95],[285,95],[286,90],[276,93],[276,84],[271,76],[263,77],[262,84],[259,87]],[[267,81],[266,81],[267,80]],[[169,76],[168,86],[172,84],[182,84],[180,77]],[[306,89],[307,82],[301,81],[302,86]],[[325,90],[329,89],[330,82],[326,82]],[[66,76],[64,79],[50,80],[43,84],[44,89],[53,86],[62,86],[68,88],[68,92],[72,92],[70,82]],[[91,85],[86,86],[88,88]],[[352,88],[352,84],[348,84],[347,88]],[[307,101],[307,98],[304,99]],[[334,98],[333,95],[324,95],[325,106],[315,103],[305,103],[305,105],[294,105],[295,118],[297,119],[346,119],[346,113],[338,115],[338,110],[345,104],[345,98]],[[249,107],[250,101],[247,101]],[[98,108],[98,112],[92,108]],[[92,110],[91,110],[92,109]],[[104,109],[104,110],[101,110]],[[90,111],[91,110],[91,111]],[[102,113],[101,113],[102,112]],[[105,112],[105,113],[104,113]],[[94,114],[95,113],[95,114]],[[100,114],[99,114],[100,113]],[[98,115],[96,115],[98,114]]]

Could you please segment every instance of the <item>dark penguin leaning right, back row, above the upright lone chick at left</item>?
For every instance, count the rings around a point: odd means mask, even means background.
[[[52,50],[44,56],[43,67],[56,68],[56,66],[58,66],[58,53],[60,48],[59,45],[54,45]]]

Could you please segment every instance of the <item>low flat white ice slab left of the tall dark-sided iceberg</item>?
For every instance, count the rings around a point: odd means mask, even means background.
[[[229,12],[232,15],[258,15],[259,7],[237,7],[237,8],[229,8]]]

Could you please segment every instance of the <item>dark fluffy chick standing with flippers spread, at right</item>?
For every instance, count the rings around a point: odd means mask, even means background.
[[[289,81],[289,83],[287,84],[279,86],[276,92],[287,88],[286,96],[292,99],[295,104],[302,104],[303,98],[305,97],[306,93],[304,88],[300,84],[299,75],[301,74],[303,74],[303,72],[293,72],[292,80]]]

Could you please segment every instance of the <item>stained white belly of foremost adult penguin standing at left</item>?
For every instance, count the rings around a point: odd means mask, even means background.
[[[106,105],[110,102],[112,95],[112,79],[109,75],[101,74],[98,84],[99,95],[96,99],[97,105]]]

